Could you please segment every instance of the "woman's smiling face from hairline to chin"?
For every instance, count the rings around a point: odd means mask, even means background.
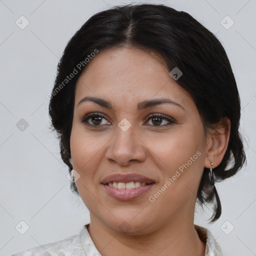
[[[84,97],[107,103],[80,102]],[[169,103],[153,104],[162,98]],[[86,118],[88,113],[98,116]],[[156,230],[171,219],[191,221],[209,162],[206,145],[195,103],[159,57],[119,48],[101,51],[87,63],[76,84],[70,150],[80,175],[76,186],[91,219],[131,233]],[[102,183],[109,175],[130,173],[154,183],[131,188],[129,180],[122,182],[129,183],[127,188],[117,184],[121,190]]]

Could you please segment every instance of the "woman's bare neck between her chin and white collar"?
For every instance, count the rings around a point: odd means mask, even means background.
[[[109,228],[91,214],[88,232],[102,256],[119,256],[124,252],[142,256],[204,256],[205,244],[194,228],[193,219],[182,217],[164,223],[150,233],[131,235]]]

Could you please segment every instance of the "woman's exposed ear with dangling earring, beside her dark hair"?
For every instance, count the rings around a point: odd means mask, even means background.
[[[220,164],[228,145],[229,135],[230,120],[227,117],[221,118],[214,129],[207,129],[204,167],[214,168]]]

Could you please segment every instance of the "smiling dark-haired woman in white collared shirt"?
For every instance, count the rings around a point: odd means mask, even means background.
[[[243,165],[240,100],[218,39],[188,13],[129,4],[69,40],[49,104],[80,234],[18,255],[222,255],[194,207]],[[227,166],[232,163],[231,166]]]

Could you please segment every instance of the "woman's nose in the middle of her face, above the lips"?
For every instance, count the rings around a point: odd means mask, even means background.
[[[128,165],[132,161],[141,162],[146,158],[146,146],[132,127],[126,131],[117,127],[115,135],[109,141],[105,157],[119,165]]]

